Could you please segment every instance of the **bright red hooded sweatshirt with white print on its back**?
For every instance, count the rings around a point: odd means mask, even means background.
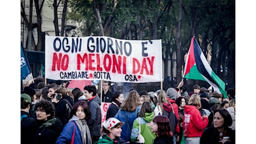
[[[201,117],[198,107],[184,106],[183,131],[184,137],[201,137],[204,128],[208,125],[208,117]]]

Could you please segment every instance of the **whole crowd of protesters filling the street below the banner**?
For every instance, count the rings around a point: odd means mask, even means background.
[[[104,81],[68,88],[43,78],[21,91],[21,143],[235,143],[235,89],[227,97],[183,81],[176,88],[111,92]],[[111,102],[102,122],[101,103]]]

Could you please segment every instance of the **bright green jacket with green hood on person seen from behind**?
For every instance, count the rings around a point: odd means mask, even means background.
[[[145,144],[152,144],[152,141],[155,140],[156,135],[155,132],[151,131],[150,122],[154,119],[154,112],[151,113],[145,113],[145,117],[137,117],[137,119],[134,120],[134,125],[132,126],[131,130],[131,141],[136,141],[136,138],[139,135],[139,119],[141,123],[141,135],[145,139]],[[142,118],[142,119],[141,119]]]

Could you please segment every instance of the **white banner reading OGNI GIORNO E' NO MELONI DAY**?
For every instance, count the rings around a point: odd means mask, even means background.
[[[147,83],[162,80],[159,40],[45,38],[45,78]]]

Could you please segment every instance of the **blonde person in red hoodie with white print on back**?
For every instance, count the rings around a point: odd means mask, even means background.
[[[208,116],[201,116],[201,101],[198,94],[191,95],[188,105],[184,106],[183,130],[186,143],[200,143],[200,137],[208,125]]]

